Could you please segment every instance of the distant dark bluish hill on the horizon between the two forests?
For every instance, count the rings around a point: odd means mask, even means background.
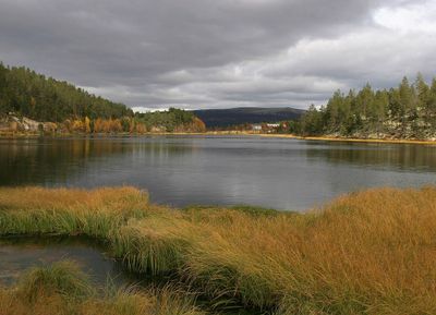
[[[243,123],[277,122],[299,119],[305,110],[291,107],[261,108],[241,107],[229,109],[194,110],[207,128],[225,128]]]

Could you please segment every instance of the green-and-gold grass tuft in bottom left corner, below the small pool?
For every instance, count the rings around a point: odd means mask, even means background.
[[[71,262],[34,268],[13,288],[0,288],[2,315],[202,315],[189,295],[134,288],[97,292]]]

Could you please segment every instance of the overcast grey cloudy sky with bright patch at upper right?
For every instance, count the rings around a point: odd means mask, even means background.
[[[436,75],[436,0],[0,0],[0,60],[137,111],[323,105]]]

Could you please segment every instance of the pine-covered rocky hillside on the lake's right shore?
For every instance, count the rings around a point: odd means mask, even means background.
[[[320,109],[311,106],[293,125],[302,135],[355,137],[436,137],[436,78],[428,85],[421,74],[411,84],[374,90],[366,84],[347,95],[337,90]]]

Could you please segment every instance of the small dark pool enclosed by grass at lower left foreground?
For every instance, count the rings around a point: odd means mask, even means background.
[[[169,278],[156,278],[125,271],[120,262],[111,259],[105,247],[86,238],[0,238],[0,287],[16,284],[24,272],[32,267],[47,266],[60,261],[74,262],[87,276],[95,288],[156,289],[165,287]],[[225,305],[210,308],[207,300],[199,296],[196,305],[208,314],[261,315],[256,310],[244,310],[240,305]],[[0,312],[1,313],[1,312]],[[1,313],[2,314],[2,313]]]

